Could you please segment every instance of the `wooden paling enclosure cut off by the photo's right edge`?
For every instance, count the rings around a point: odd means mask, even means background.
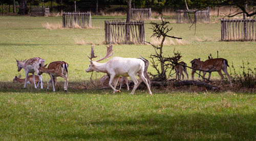
[[[256,41],[256,19],[221,19],[221,40]]]

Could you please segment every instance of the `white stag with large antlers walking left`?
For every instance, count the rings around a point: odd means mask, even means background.
[[[147,79],[143,75],[144,68],[145,68],[144,59],[142,57],[141,59],[113,57],[108,62],[98,63],[99,61],[106,59],[108,57],[111,57],[113,55],[112,53],[113,45],[111,44],[110,46],[106,46],[106,48],[107,48],[106,56],[99,60],[93,61],[93,58],[96,58],[97,56],[94,56],[94,46],[92,45],[91,57],[88,55],[90,59],[90,65],[86,69],[86,72],[96,71],[96,72],[109,74],[110,75],[109,85],[113,89],[113,93],[115,93],[116,91],[120,92],[120,90],[116,89],[118,79],[114,79],[114,78],[117,78],[119,76],[123,76],[123,77],[130,76],[132,81],[134,82],[134,87],[131,92],[132,95],[134,94],[134,91],[139,85],[139,82],[136,79],[136,75],[137,75],[146,84],[148,92],[150,93],[150,95],[152,95]],[[112,85],[113,80],[115,80],[114,86]]]

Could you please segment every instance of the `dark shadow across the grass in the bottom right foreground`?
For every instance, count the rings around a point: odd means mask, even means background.
[[[253,140],[256,137],[255,122],[255,113],[242,115],[195,113],[174,116],[167,114],[143,114],[128,120],[103,119],[102,121],[91,122],[90,124],[94,130],[93,133],[78,130],[76,134],[62,134],[57,136],[57,138],[100,140]],[[88,125],[88,123],[82,124]]]

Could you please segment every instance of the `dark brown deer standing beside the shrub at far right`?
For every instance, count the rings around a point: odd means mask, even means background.
[[[195,59],[194,59],[195,60]],[[230,86],[232,87],[232,82],[231,82],[231,78],[227,72],[227,67],[228,67],[228,63],[227,60],[224,58],[214,58],[214,59],[208,59],[206,61],[204,61],[201,65],[200,68],[203,71],[203,78],[205,76],[205,74],[207,72],[209,72],[209,78],[210,78],[210,73],[211,72],[218,72],[219,75],[221,76],[221,83],[220,86],[222,84],[222,80],[224,78],[224,76],[221,73],[221,70],[223,70],[223,72],[227,75],[227,78],[229,79],[229,83]],[[204,80],[204,79],[203,79]]]

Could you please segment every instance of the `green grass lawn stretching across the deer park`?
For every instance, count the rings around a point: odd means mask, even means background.
[[[232,90],[204,91],[190,87],[179,91],[153,88],[153,97],[145,90],[121,90],[112,95],[111,89],[89,87],[91,73],[87,54],[95,44],[95,54],[104,56],[104,20],[125,17],[92,16],[92,29],[45,29],[43,25],[62,25],[61,17],[0,16],[0,139],[1,140],[170,140],[170,139],[256,139],[256,95]],[[154,22],[160,22],[154,20]],[[145,21],[147,41],[151,39],[150,21]],[[232,63],[241,72],[242,61],[256,67],[256,42],[223,42],[220,22],[197,24],[171,23],[169,35],[182,37],[182,42],[164,46],[164,55],[181,52],[188,65],[194,58],[206,60],[211,53]],[[86,45],[78,45],[84,41]],[[151,45],[113,46],[114,56],[139,57],[150,60]],[[69,63],[68,92],[47,92],[49,76],[43,74],[44,89],[33,85],[23,88],[14,84],[18,60],[41,57],[46,63],[63,60]],[[106,62],[104,60],[102,62]],[[150,72],[156,72],[152,66]],[[230,72],[230,68],[228,68]],[[188,69],[189,79],[191,70]],[[231,73],[233,70],[231,69]],[[104,74],[94,73],[93,79]],[[173,76],[174,78],[175,76]],[[197,75],[196,75],[197,77]],[[212,79],[220,79],[212,73]],[[225,81],[227,83],[227,81]],[[228,84],[228,83],[227,83]],[[85,86],[84,86],[85,85]],[[91,84],[90,84],[91,85]],[[182,89],[182,90],[181,90]]]

